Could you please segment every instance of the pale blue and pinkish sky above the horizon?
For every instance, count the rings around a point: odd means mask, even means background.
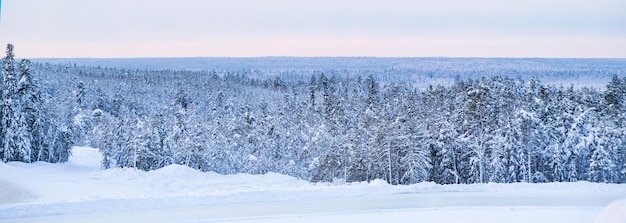
[[[626,58],[624,0],[0,0],[27,58]]]

